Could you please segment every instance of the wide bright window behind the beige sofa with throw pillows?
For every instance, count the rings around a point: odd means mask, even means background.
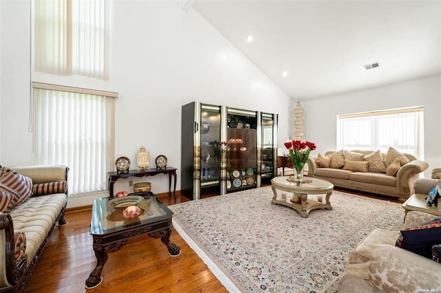
[[[389,146],[424,158],[423,107],[338,116],[337,148],[386,152]]]

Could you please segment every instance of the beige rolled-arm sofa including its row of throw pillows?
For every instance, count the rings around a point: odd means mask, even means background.
[[[413,184],[429,164],[413,155],[389,148],[380,151],[327,151],[311,157],[308,176],[334,186],[398,197],[404,202],[413,194]]]

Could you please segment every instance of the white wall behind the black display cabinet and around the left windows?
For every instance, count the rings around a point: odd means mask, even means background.
[[[29,2],[0,1],[4,30],[0,164],[5,166],[33,162],[32,133],[28,132]],[[88,81],[88,85],[120,93],[116,100],[116,158],[125,155],[136,168],[136,151],[145,146],[152,166],[156,155],[163,154],[169,166],[180,169],[181,106],[194,100],[278,113],[279,144],[289,136],[289,97],[197,12],[184,12],[172,1],[119,0],[113,4],[110,80]],[[41,74],[34,78],[50,82]],[[64,83],[81,82],[71,78]],[[154,193],[168,190],[167,176],[134,178],[135,183],[141,180],[152,182]],[[178,171],[177,189],[180,186]],[[124,180],[116,182],[115,188],[131,189]],[[91,204],[93,198],[72,197],[68,206]]]

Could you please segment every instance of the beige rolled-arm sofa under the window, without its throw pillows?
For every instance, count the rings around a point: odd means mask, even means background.
[[[348,152],[348,151],[345,151]],[[360,153],[362,155],[371,155],[376,151],[349,151],[351,153]],[[377,151],[379,153],[379,151]],[[327,151],[325,156],[336,153],[335,151]],[[385,153],[381,153],[383,160],[386,158]],[[364,191],[368,193],[376,193],[379,195],[389,195],[398,197],[402,202],[413,194],[413,184],[420,176],[420,173],[429,168],[427,162],[417,160],[413,155],[403,153],[409,162],[403,166],[399,166],[396,175],[387,175],[386,173],[369,171],[351,171],[340,168],[324,168],[318,164],[318,156],[311,157],[308,160],[308,176],[317,177],[327,180],[334,186],[349,188],[356,191]],[[334,160],[334,159],[333,159]]]

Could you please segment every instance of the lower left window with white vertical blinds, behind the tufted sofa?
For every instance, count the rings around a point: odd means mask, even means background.
[[[116,93],[33,83],[36,164],[70,168],[69,193],[107,187],[114,158]]]

